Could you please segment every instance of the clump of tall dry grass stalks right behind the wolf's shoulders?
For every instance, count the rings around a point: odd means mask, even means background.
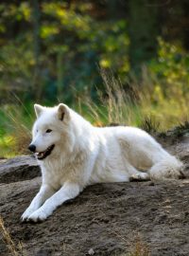
[[[97,101],[93,101],[89,94],[79,98],[80,114],[90,116],[94,125],[110,124],[137,125],[140,119],[140,109],[136,104],[136,88],[131,94],[125,90],[122,82],[116,79],[111,71],[100,70],[104,82],[104,91],[97,89]],[[84,107],[83,107],[84,106]],[[85,110],[88,109],[86,114]],[[84,110],[84,111],[83,111]]]

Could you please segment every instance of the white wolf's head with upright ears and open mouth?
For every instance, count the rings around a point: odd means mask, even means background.
[[[60,103],[56,107],[34,105],[37,120],[33,125],[32,141],[28,149],[43,160],[56,152],[60,143],[66,147],[70,131],[70,108]],[[69,142],[69,143],[68,143]]]

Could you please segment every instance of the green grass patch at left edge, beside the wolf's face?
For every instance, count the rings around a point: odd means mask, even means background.
[[[1,157],[28,154],[27,146],[31,139],[31,123],[34,118],[23,105],[18,103],[4,105],[0,111]]]

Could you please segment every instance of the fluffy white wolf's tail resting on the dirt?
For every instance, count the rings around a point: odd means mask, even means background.
[[[149,175],[152,180],[166,180],[184,178],[182,173],[183,164],[173,155],[155,163],[149,170]]]

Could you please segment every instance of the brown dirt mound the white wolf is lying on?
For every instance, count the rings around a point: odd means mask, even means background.
[[[38,224],[20,222],[41,184],[35,160],[2,160],[0,214],[15,244],[22,242],[27,256],[119,256],[138,237],[150,255],[189,255],[188,137],[159,139],[184,161],[186,179],[90,186]],[[0,255],[8,256],[0,238]]]

